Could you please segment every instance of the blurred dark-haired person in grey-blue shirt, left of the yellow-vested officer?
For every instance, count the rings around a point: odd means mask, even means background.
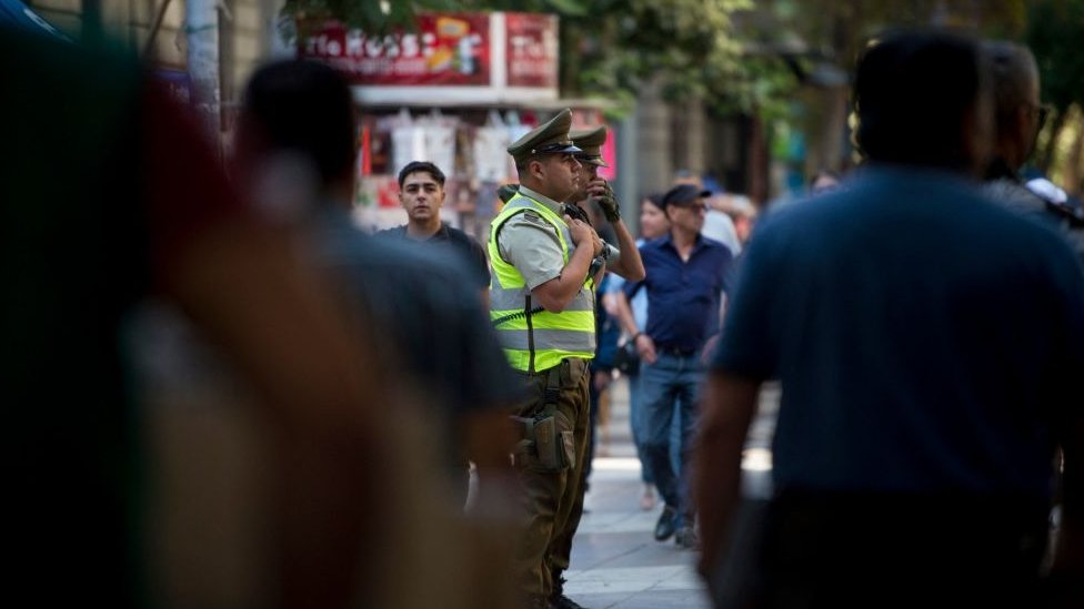
[[[521,390],[476,297],[476,281],[458,260],[409,241],[377,240],[353,225],[354,108],[349,82],[333,68],[287,60],[259,69],[245,88],[239,129],[239,168],[258,192],[267,191],[261,181],[281,172],[282,159],[313,173],[305,206],[318,262],[339,280],[342,305],[377,322],[367,346],[391,363],[389,382],[426,406],[419,414],[438,433],[399,447],[421,455],[430,471],[385,467],[367,499],[391,512],[381,535],[367,541],[374,559],[364,565],[369,582],[393,587],[377,606],[506,606],[509,578],[501,569],[508,557],[501,522],[490,517],[508,516],[501,511],[512,484],[505,409]],[[479,527],[463,530],[463,519],[453,516],[462,511],[468,458],[484,484],[469,522]],[[439,505],[411,501],[419,496],[412,487],[424,487],[433,470],[448,474],[448,497],[429,498]],[[426,585],[418,586],[422,570]]]

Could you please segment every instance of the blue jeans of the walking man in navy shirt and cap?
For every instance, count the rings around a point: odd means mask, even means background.
[[[700,389],[704,366],[700,354],[687,356],[659,354],[654,364],[640,367],[644,409],[644,456],[655,478],[659,495],[678,511],[678,526],[692,526],[693,508],[689,498],[689,450],[700,410]],[[671,436],[680,426],[678,454],[671,460]],[[675,467],[676,465],[676,467]]]

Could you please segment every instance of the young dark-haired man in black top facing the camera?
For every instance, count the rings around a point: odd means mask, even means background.
[[[406,224],[381,231],[377,236],[426,243],[459,256],[472,271],[482,302],[488,303],[490,263],[485,251],[474,237],[441,220],[444,180],[444,172],[429,161],[411,161],[403,165],[399,172],[399,202],[406,211]]]

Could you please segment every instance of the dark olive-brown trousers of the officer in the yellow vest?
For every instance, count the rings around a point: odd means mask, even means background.
[[[554,578],[569,568],[572,537],[583,512],[583,473],[590,425],[588,362],[569,358],[536,374],[524,374],[528,397],[515,414],[531,417],[545,407],[545,389],[556,393],[556,417],[573,432],[575,464],[561,471],[518,466],[524,527],[515,549],[515,572],[525,595],[549,597]]]

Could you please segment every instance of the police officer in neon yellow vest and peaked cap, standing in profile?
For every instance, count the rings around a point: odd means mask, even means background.
[[[490,315],[529,387],[514,413],[526,514],[515,567],[530,607],[546,609],[580,607],[563,595],[560,576],[583,501],[594,287],[606,256],[620,256],[562,204],[581,190],[575,153],[582,151],[569,136],[571,124],[563,110],[509,146],[520,187],[493,220],[489,240]]]

